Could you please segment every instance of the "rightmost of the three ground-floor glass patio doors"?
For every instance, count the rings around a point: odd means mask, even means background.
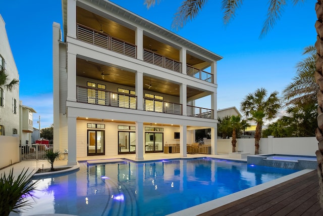
[[[145,133],[145,152],[163,152],[164,151],[163,133]]]

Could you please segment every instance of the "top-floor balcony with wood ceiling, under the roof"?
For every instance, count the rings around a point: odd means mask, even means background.
[[[136,45],[135,26],[126,27],[116,21],[77,7],[76,38],[89,44],[111,50],[178,73],[214,83],[214,76],[206,72],[207,62],[190,52],[181,53],[179,47],[143,32],[140,46]],[[164,42],[162,42],[164,41]],[[182,54],[182,57],[180,57]],[[185,67],[183,67],[185,62]]]

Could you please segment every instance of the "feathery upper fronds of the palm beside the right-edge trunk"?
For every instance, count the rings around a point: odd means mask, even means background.
[[[310,54],[303,61],[297,63],[297,75],[293,82],[289,83],[283,90],[285,106],[291,104],[313,104],[317,103],[318,85],[315,82],[316,49],[308,46],[304,49],[305,54]]]

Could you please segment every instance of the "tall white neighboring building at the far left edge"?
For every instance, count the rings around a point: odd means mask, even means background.
[[[11,52],[5,21],[0,15],[0,71],[8,73],[8,80],[19,79]],[[0,87],[0,136],[13,136],[19,132],[19,85],[11,92]],[[17,135],[18,136],[18,135]]]

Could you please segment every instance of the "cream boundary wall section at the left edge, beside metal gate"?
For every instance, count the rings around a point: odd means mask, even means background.
[[[0,136],[0,168],[19,162],[19,137]]]

